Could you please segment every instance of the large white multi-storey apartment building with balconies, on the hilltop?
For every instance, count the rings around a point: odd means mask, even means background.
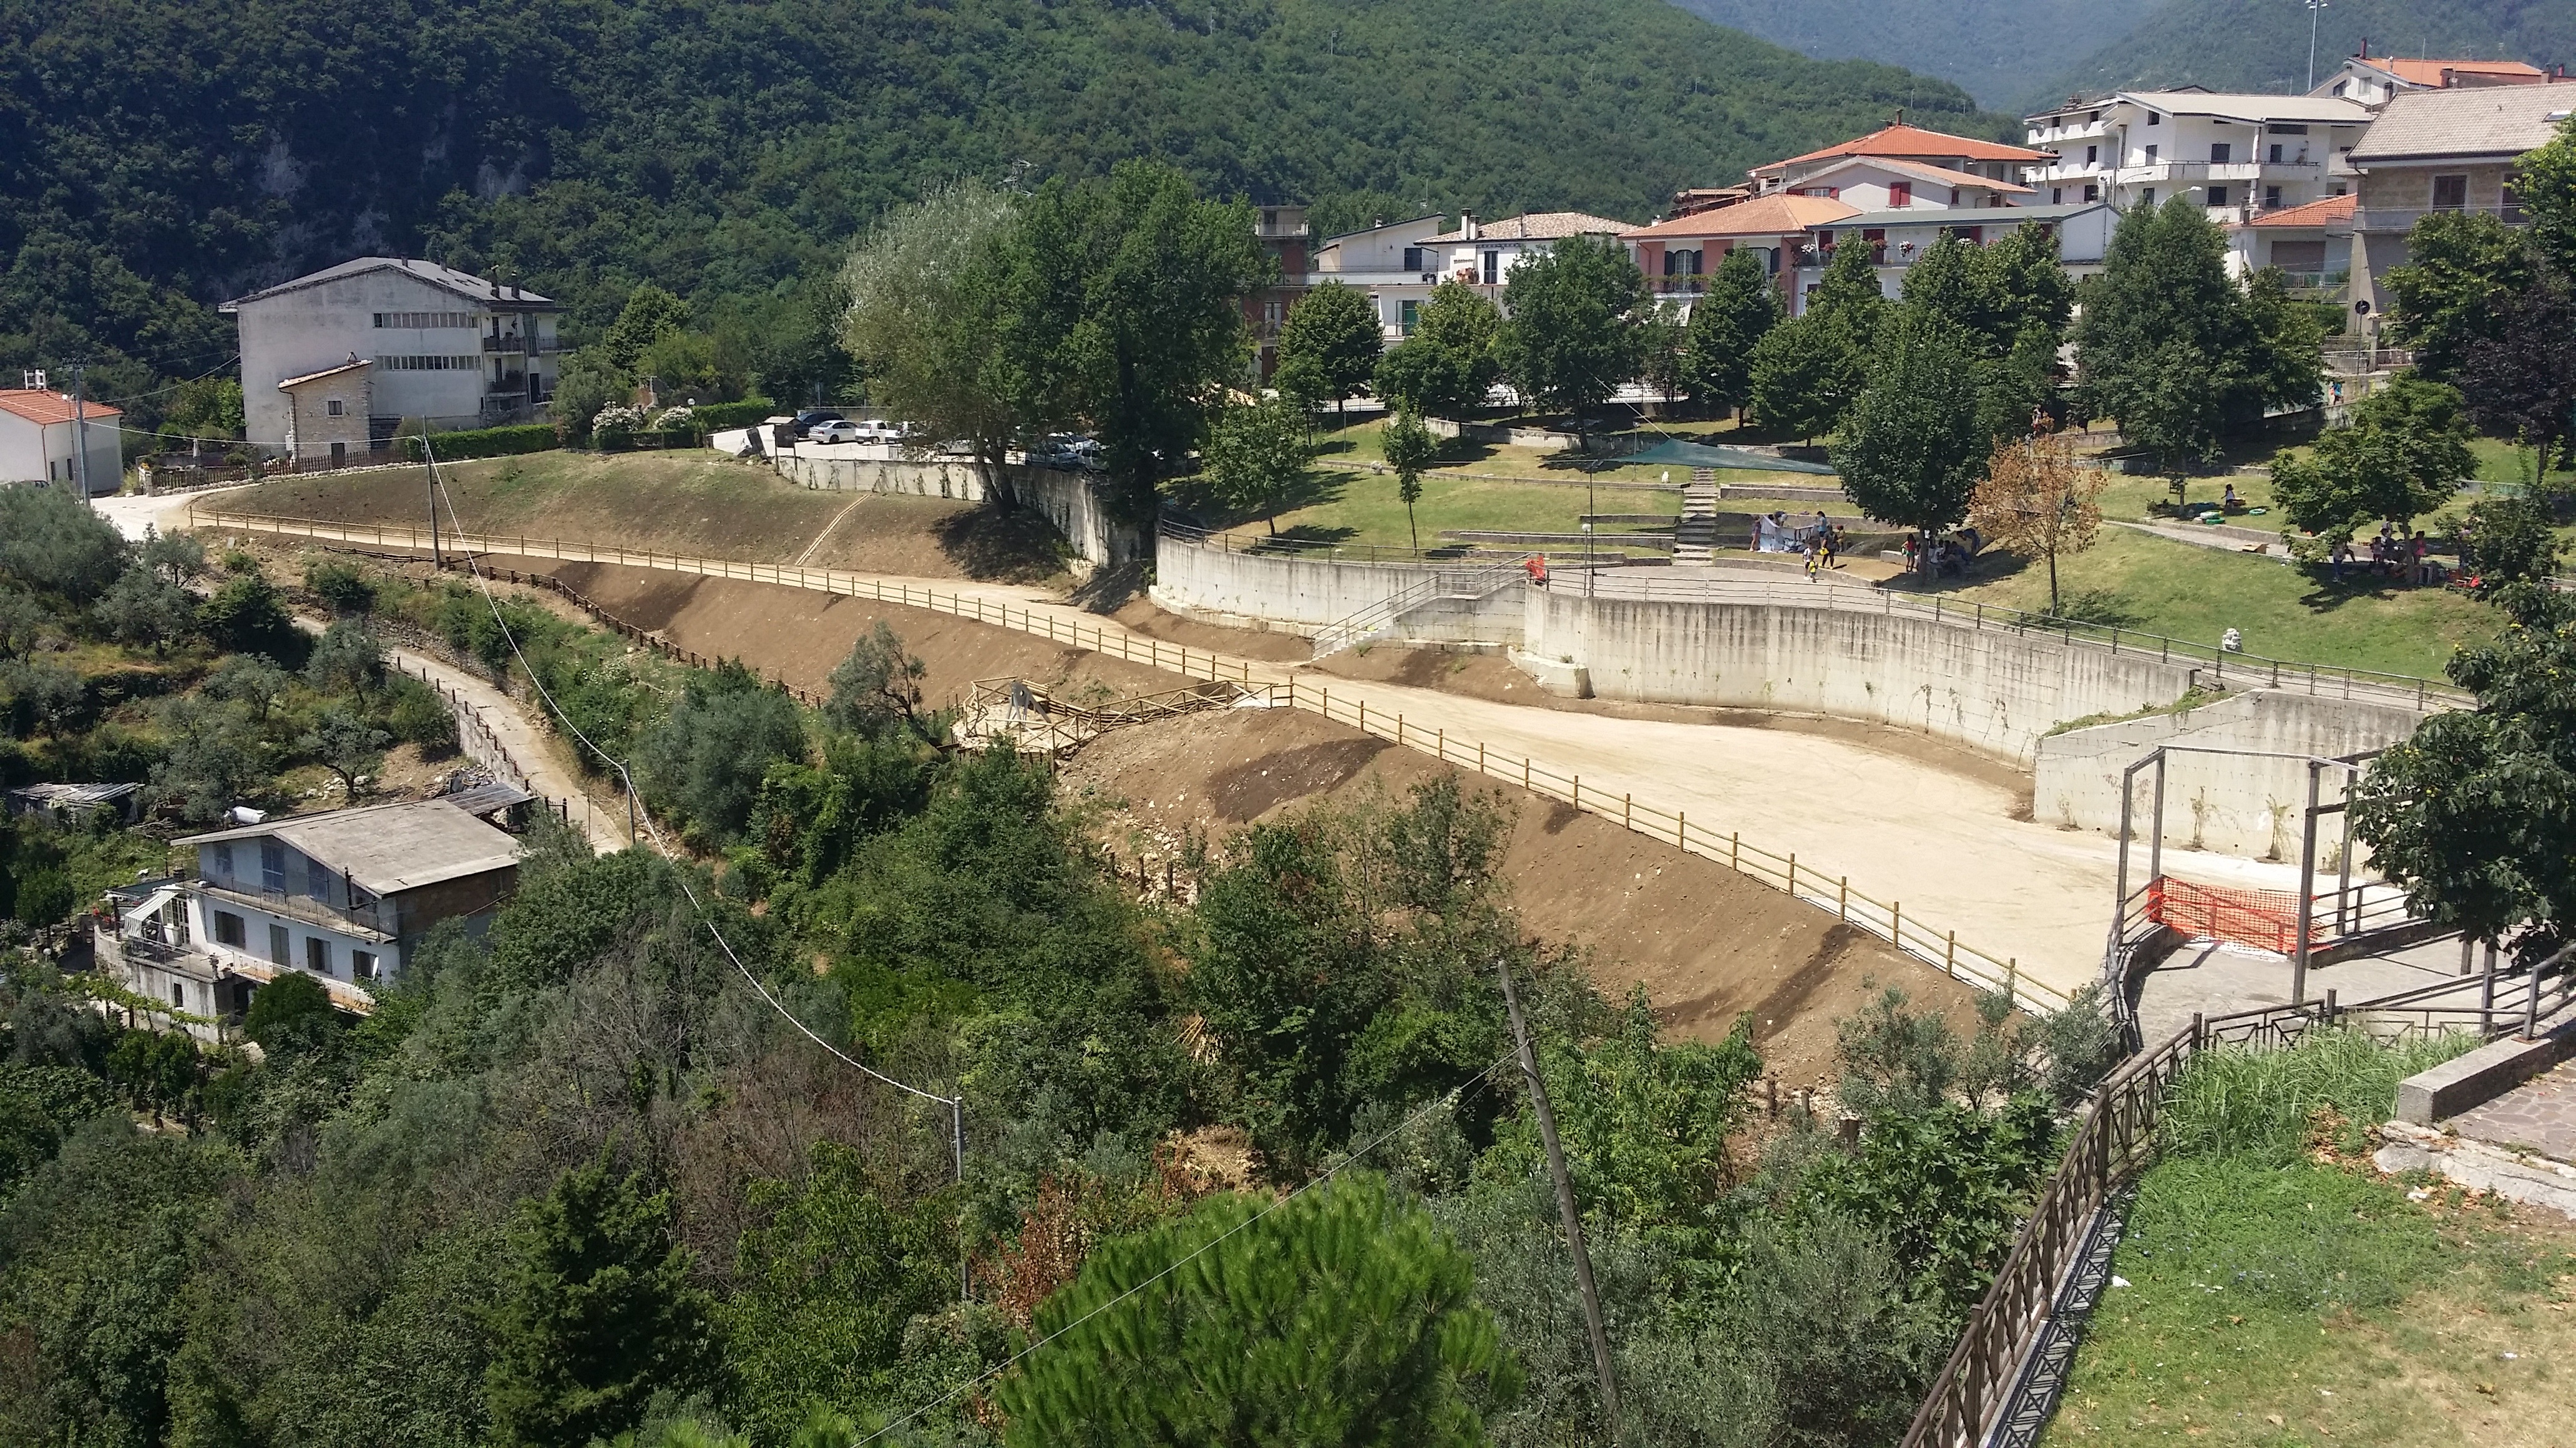
[[[2334,95],[2120,90],[2025,124],[2032,147],[2056,152],[2030,173],[2043,206],[2107,201],[2128,211],[2192,196],[2218,224],[2241,227],[2349,193],[2344,152],[2370,126],[2370,108]]]

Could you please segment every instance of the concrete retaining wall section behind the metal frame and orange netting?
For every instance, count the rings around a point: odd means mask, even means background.
[[[2215,703],[2148,719],[2069,729],[2040,739],[2030,809],[2076,830],[2120,830],[2120,770],[2156,745],[2339,757],[2380,750],[2414,734],[2424,714],[2398,703],[2311,698],[2257,688]],[[2298,760],[2246,755],[2166,755],[2164,840],[2246,858],[2298,858],[2298,817],[2308,806],[2308,768]],[[2344,773],[2326,770],[2318,801],[2344,796]],[[2141,781],[2138,837],[2148,832],[2151,796]],[[2326,819],[2331,866],[2342,827]]]

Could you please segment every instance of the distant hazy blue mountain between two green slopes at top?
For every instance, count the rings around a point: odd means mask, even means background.
[[[1672,0],[1811,57],[1880,59],[1965,85],[1994,108],[2123,39],[2154,5],[2102,0]],[[2298,0],[2282,0],[2295,5]]]

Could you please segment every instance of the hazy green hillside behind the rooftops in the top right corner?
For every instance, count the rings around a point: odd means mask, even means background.
[[[2370,54],[2576,64],[2576,5],[2334,0],[2318,15],[2316,72],[2326,75],[2347,54],[2357,54],[2365,39]],[[2027,90],[2022,100],[2045,106],[2115,85],[2298,93],[2306,90],[2306,80],[2308,10],[2298,0],[2166,0],[2148,23],[2084,57],[2056,82]]]

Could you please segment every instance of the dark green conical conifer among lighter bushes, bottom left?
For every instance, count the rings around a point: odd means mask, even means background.
[[[670,1193],[616,1177],[603,1149],[520,1214],[492,1319],[484,1402],[502,1443],[582,1448],[636,1425],[657,1389],[714,1363],[708,1296],[670,1234]]]

